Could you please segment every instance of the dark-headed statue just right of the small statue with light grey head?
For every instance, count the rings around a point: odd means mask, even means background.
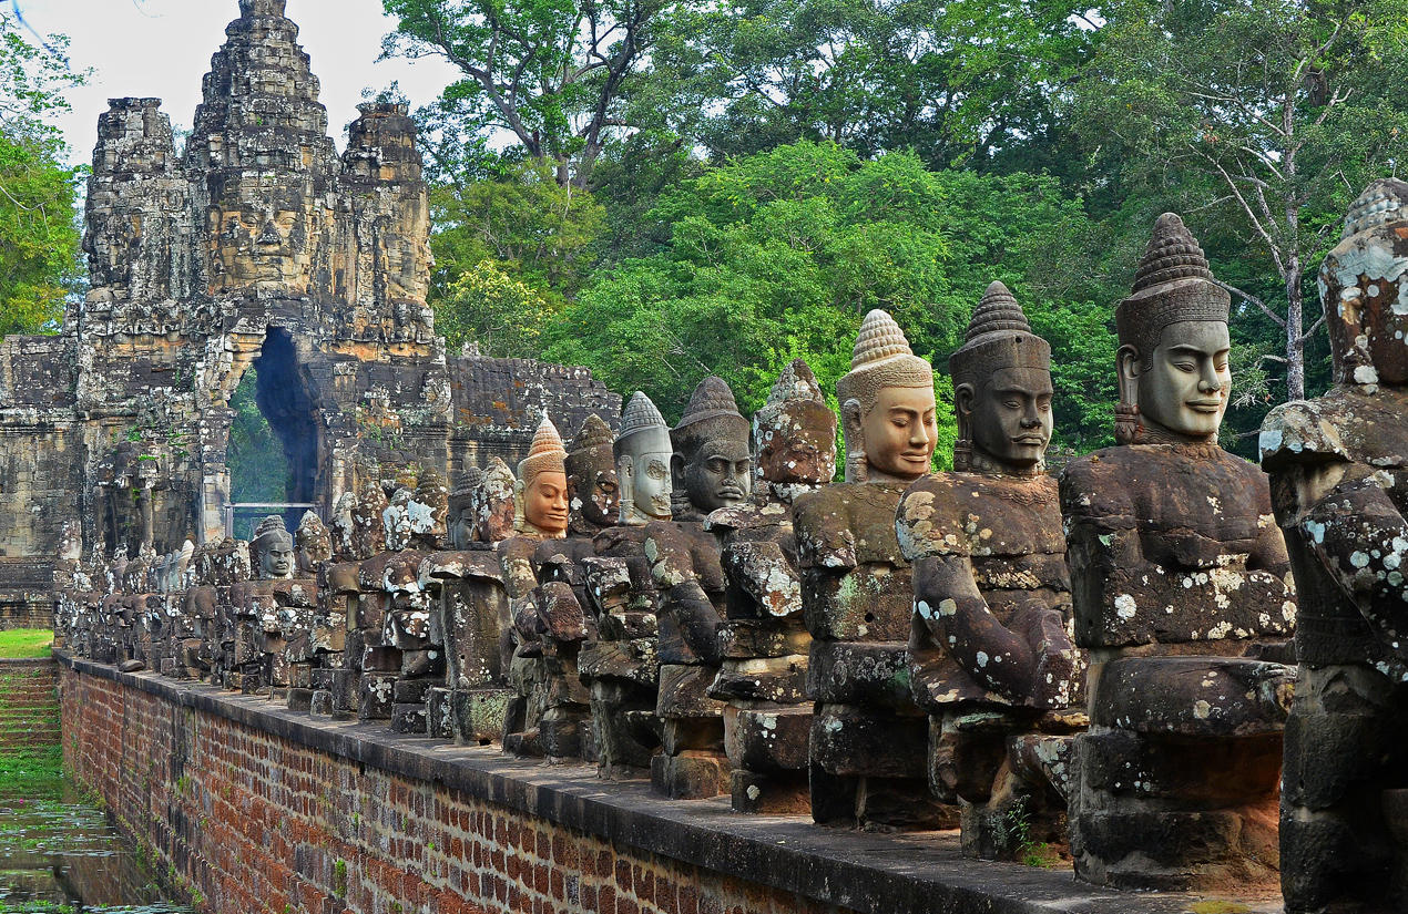
[[[665,752],[652,759],[650,780],[676,799],[729,789],[724,703],[708,695],[719,664],[724,568],[703,517],[742,503],[752,489],[750,432],[728,384],[704,378],[670,430],[674,519],[646,526],[645,554],[660,591],[655,713],[665,730]]]

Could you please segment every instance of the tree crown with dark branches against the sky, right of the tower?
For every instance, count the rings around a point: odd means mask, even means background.
[[[584,184],[621,121],[663,0],[383,0],[400,17],[386,55],[442,56],[465,79],[432,124],[465,138],[507,131],[560,184]]]

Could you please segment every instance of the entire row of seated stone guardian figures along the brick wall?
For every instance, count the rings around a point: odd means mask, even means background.
[[[1267,418],[1264,472],[1218,446],[1231,301],[1166,214],[1115,315],[1118,444],[1059,479],[1050,347],[993,283],[952,472],[873,311],[843,482],[805,363],[752,422],[711,377],[674,427],[639,392],[615,433],[545,416],[451,491],[363,467],[293,534],[69,546],[61,644],[741,813],[1045,842],[1100,884],[1408,910],[1405,271],[1408,184],[1376,181],[1321,271],[1335,387]]]

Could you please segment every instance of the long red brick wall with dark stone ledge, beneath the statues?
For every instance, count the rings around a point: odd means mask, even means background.
[[[206,911],[1174,914],[1198,901],[967,861],[956,832],[739,816],[727,797],[663,800],[584,766],[59,662],[66,762]]]

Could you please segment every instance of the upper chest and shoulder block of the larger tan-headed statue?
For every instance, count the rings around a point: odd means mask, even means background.
[[[903,482],[835,482],[793,506],[797,562],[803,568],[907,565],[894,529]]]

